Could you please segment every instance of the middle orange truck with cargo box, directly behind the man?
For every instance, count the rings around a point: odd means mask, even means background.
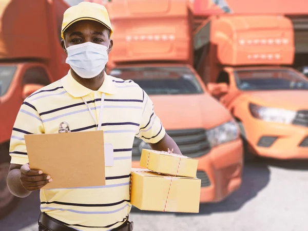
[[[105,6],[114,28],[110,74],[139,84],[183,155],[199,160],[201,202],[223,200],[241,185],[242,142],[232,115],[192,68],[187,2],[113,0]],[[150,147],[136,138],[133,167],[142,148]]]

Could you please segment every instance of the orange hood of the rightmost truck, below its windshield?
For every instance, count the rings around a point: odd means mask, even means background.
[[[308,90],[253,91],[246,95],[250,95],[252,102],[262,104],[261,106],[289,110],[308,109]]]

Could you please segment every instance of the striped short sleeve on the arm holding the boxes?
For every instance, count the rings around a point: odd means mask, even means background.
[[[146,143],[157,143],[165,136],[165,128],[159,117],[155,114],[153,102],[144,91],[143,102],[144,107],[141,123],[136,137],[142,139]]]

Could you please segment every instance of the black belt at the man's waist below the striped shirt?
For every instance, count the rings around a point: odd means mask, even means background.
[[[71,228],[65,224],[63,224],[61,221],[58,221],[50,216],[48,216],[45,213],[41,213],[40,217],[38,218],[38,223],[41,223],[46,228],[52,230],[52,231],[76,231],[76,229]],[[129,231],[133,228],[133,222],[129,222],[128,219],[124,224],[122,224],[120,227],[114,228],[112,230],[123,230],[123,231]]]

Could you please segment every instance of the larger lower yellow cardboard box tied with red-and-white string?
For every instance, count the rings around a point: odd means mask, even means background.
[[[131,176],[133,206],[150,211],[199,213],[200,179],[164,176],[147,169],[132,169]]]

